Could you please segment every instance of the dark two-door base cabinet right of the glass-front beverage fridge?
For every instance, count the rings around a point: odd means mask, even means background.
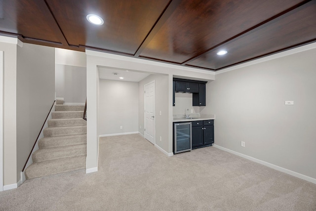
[[[192,149],[214,143],[214,120],[192,122]]]

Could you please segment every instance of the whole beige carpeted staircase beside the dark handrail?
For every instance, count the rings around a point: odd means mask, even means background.
[[[86,121],[84,105],[63,105],[57,100],[52,119],[43,130],[39,150],[32,155],[33,164],[25,170],[26,179],[85,169]]]

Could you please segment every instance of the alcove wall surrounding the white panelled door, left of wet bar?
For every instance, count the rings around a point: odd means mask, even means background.
[[[168,132],[169,125],[166,124],[169,119],[169,97],[166,93],[169,90],[168,76],[167,75],[150,75],[139,82],[139,132],[145,135],[145,116],[144,116],[144,85],[155,80],[155,144],[158,145],[165,152],[169,151],[169,138]],[[172,102],[170,103],[172,105]],[[161,115],[159,112],[161,111]],[[161,141],[160,141],[161,136]]]

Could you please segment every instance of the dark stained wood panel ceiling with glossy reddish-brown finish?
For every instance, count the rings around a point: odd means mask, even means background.
[[[0,0],[0,35],[217,71],[316,42],[316,0]]]

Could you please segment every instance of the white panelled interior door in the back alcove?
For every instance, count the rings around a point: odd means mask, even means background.
[[[145,138],[155,144],[155,81],[145,84]]]

